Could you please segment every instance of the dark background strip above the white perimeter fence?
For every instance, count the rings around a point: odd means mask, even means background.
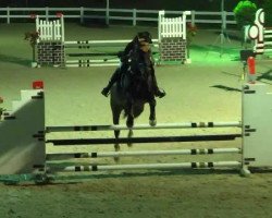
[[[252,0],[258,8],[264,0]],[[233,11],[239,0],[225,0],[225,11]],[[220,11],[221,0],[110,0],[110,8]],[[89,7],[104,8],[106,0],[0,0],[0,7]]]

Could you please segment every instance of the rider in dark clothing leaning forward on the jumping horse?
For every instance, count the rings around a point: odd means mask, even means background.
[[[138,33],[134,37],[134,39],[131,43],[127,44],[127,46],[125,47],[124,52],[120,53],[121,66],[115,70],[115,72],[113,73],[113,75],[111,76],[111,78],[109,81],[109,84],[102,89],[102,92],[101,92],[102,95],[108,97],[111,86],[115,82],[121,80],[121,75],[126,72],[126,70],[128,68],[129,53],[135,48],[135,45],[138,45],[139,49],[141,51],[144,51],[146,53],[147,52],[151,53],[151,49],[150,49],[149,44],[152,44],[152,40],[151,40],[151,35],[148,32]],[[152,82],[153,82],[153,88],[154,88],[154,96],[160,97],[160,98],[164,97],[165,92],[161,92],[159,89],[159,87],[158,87],[158,84],[157,84],[154,70],[153,70],[153,60],[149,60],[149,61],[145,61],[145,62],[146,62],[146,64],[148,64],[147,62],[149,62],[147,68],[151,68],[151,72],[152,72],[151,75],[152,75]]]

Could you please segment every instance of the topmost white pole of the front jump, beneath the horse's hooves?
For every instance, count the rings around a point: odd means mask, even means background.
[[[132,130],[158,130],[158,129],[194,129],[194,128],[242,128],[240,121],[231,122],[184,122],[184,123],[159,123],[154,126],[149,124],[134,125]],[[126,125],[74,125],[74,126],[47,126],[50,132],[72,132],[72,131],[113,131],[129,130]]]

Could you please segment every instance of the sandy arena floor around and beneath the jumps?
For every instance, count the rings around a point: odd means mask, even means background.
[[[0,96],[2,107],[11,108],[21,89],[42,80],[46,93],[47,125],[111,124],[109,98],[100,92],[108,83],[114,66],[103,68],[39,68],[32,69],[32,50],[24,33],[34,31],[28,24],[0,25]],[[125,31],[124,31],[125,29]],[[138,31],[153,27],[90,28],[66,24],[66,40],[129,39]],[[239,43],[237,33],[230,32],[223,47],[214,31],[199,29],[191,45],[191,64],[156,66],[159,86],[166,96],[157,99],[158,123],[199,121],[240,121]],[[156,38],[156,37],[154,37]],[[222,55],[222,57],[220,57]],[[257,60],[257,76],[272,92],[271,61]],[[147,107],[148,109],[148,107]],[[136,123],[148,122],[146,110]],[[122,120],[122,123],[125,123]],[[191,130],[135,131],[135,136],[187,135],[207,133],[240,133],[235,128]],[[89,133],[88,133],[89,134]],[[89,136],[82,134],[81,136]],[[111,137],[111,132],[94,132],[91,136]],[[73,137],[71,133],[48,137]],[[78,136],[78,135],[77,135]],[[122,132],[126,136],[126,131]],[[231,142],[163,143],[122,145],[122,150],[178,149],[208,147],[240,147],[240,138]],[[113,150],[113,146],[47,146],[48,152]],[[239,160],[239,155],[212,157],[162,156],[121,158],[120,164],[184,162]],[[88,162],[114,164],[111,158]],[[69,165],[61,162],[61,165]],[[59,180],[50,185],[33,183],[7,186],[0,184],[1,218],[51,217],[271,217],[271,171],[255,171],[243,178],[235,169],[223,170],[151,170],[83,173]]]

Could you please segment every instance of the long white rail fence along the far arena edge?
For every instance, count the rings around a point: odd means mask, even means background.
[[[0,8],[0,22],[8,24],[22,19],[33,19],[33,14],[39,15],[47,21],[55,17],[55,13],[63,13],[65,20],[78,19],[81,23],[86,19],[104,20],[107,24],[111,21],[132,21],[136,26],[137,22],[158,22],[159,10],[137,10],[137,9],[96,9],[96,8]],[[178,16],[181,11],[166,11],[166,14]],[[226,28],[226,25],[234,25],[236,21],[233,12],[199,12],[191,11],[187,21],[193,24],[219,24]]]

